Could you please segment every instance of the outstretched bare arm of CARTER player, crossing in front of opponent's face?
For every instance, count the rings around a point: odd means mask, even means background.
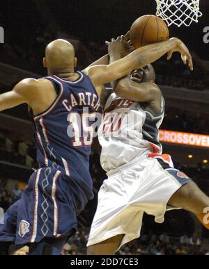
[[[136,49],[131,54],[120,60],[116,60],[110,65],[88,67],[84,72],[88,74],[95,85],[95,88],[97,88],[105,83],[120,79],[134,69],[155,62],[155,60],[159,59],[168,51],[180,51],[180,53],[184,53],[187,56],[189,67],[192,69],[192,57],[190,56],[189,51],[186,47],[180,47],[179,44],[180,40],[177,38],[171,38],[170,40],[160,43],[149,44],[145,47]],[[185,60],[185,63],[187,63],[187,60]]]

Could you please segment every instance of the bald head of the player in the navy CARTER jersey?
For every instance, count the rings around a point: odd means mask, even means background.
[[[49,74],[74,72],[77,65],[75,49],[67,40],[57,39],[47,44],[43,65]]]

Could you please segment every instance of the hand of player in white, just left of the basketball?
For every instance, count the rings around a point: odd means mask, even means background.
[[[116,40],[112,38],[111,42],[106,41],[105,43],[108,46],[109,55],[124,57],[130,54],[131,50],[124,35],[118,36]]]

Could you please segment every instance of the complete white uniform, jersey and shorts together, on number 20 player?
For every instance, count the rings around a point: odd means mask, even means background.
[[[123,234],[121,245],[139,238],[144,212],[162,223],[173,193],[191,179],[173,168],[171,156],[162,154],[158,140],[164,117],[164,99],[158,115],[145,104],[112,94],[98,130],[101,163],[107,171],[98,193],[87,246]],[[121,247],[118,246],[118,249]]]

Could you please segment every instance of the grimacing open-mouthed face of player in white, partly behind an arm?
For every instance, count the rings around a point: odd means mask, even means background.
[[[146,65],[145,67],[141,67],[137,70],[133,70],[130,74],[130,79],[137,83],[143,82],[155,82],[155,70],[153,65]]]

